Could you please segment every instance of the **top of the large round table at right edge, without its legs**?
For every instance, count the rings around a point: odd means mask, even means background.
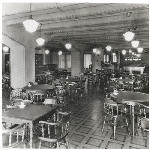
[[[140,92],[131,92],[131,91],[118,91],[117,95],[111,93],[111,96],[121,100],[131,100],[137,102],[148,101],[149,102],[149,94],[140,93]]]

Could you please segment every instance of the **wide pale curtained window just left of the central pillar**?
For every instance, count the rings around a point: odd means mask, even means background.
[[[71,68],[71,54],[59,55],[59,68]]]

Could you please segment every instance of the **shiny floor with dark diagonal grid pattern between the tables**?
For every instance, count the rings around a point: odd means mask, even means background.
[[[9,104],[9,92],[3,91],[2,107]],[[72,110],[69,132],[70,149],[148,149],[147,133],[139,133],[132,138],[126,128],[118,128],[116,140],[113,137],[112,128],[106,125],[102,133],[103,123],[103,89],[95,85],[86,87],[86,94],[76,103],[69,103],[68,110]],[[34,132],[33,148],[38,148],[38,136],[40,132]],[[24,148],[22,144],[14,148]],[[61,149],[65,147],[62,146]],[[42,149],[48,149],[47,143],[43,143]]]

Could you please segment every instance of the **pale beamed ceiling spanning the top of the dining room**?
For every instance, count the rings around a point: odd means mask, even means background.
[[[4,3],[2,9],[7,26],[24,28],[29,3]],[[149,48],[149,4],[32,3],[31,11],[33,19],[42,24],[45,46],[50,49],[65,49],[62,42],[71,41],[89,48],[110,45],[115,50],[130,49],[131,43],[123,37],[128,29],[141,47]]]

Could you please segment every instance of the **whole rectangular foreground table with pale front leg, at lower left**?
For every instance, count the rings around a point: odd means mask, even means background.
[[[42,120],[42,117],[52,115],[55,107],[45,105],[28,105],[25,108],[15,108],[3,112],[2,118],[4,122],[22,124],[29,123],[30,128],[30,149],[32,149],[33,124],[35,121]]]

